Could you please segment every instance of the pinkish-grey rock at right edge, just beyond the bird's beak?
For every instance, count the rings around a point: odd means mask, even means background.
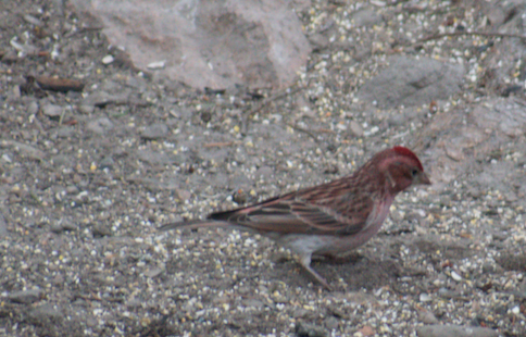
[[[408,121],[409,122],[409,121]],[[436,114],[414,133],[435,188],[459,180],[473,197],[499,190],[512,207],[526,207],[526,111],[514,98],[487,98]]]

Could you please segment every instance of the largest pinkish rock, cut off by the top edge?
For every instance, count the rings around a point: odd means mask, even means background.
[[[74,0],[139,68],[191,87],[284,86],[310,45],[288,1]],[[164,67],[162,66],[164,64]]]

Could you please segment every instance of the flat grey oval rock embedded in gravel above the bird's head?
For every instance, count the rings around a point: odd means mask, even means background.
[[[429,104],[459,92],[463,76],[462,64],[392,57],[387,68],[360,88],[358,97],[379,108]]]

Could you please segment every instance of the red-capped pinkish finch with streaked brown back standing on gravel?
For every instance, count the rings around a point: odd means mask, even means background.
[[[312,269],[313,257],[334,258],[362,246],[380,229],[398,194],[430,184],[418,157],[396,146],[376,153],[351,175],[159,229],[230,227],[261,234],[295,252],[301,266],[331,290]]]

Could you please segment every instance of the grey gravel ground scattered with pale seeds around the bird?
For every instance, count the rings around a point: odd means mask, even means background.
[[[71,34],[82,24],[68,7],[3,1],[0,336],[448,336],[450,325],[525,336],[524,133],[474,151],[449,182],[435,165],[443,139],[424,137],[453,110],[523,102],[519,40],[419,40],[491,32],[510,7],[373,2],[299,13],[317,47],[295,86],[214,93],[104,65],[117,51],[98,30]],[[464,87],[428,109],[359,100],[394,53],[463,63]],[[86,86],[45,91],[27,75]],[[349,174],[393,145],[417,149],[437,184],[399,196],[356,252],[313,263],[333,292],[263,237],[155,230]],[[436,324],[442,335],[423,329]]]

